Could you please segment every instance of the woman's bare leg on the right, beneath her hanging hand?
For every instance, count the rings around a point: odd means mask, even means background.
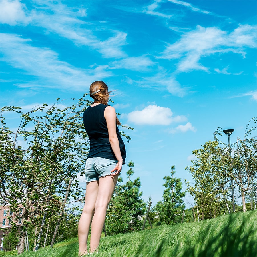
[[[95,214],[91,223],[90,250],[95,252],[99,246],[103,231],[108,204],[113,195],[118,176],[106,176],[99,179],[97,200],[95,202]]]

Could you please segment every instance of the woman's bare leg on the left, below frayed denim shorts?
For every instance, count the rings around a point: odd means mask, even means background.
[[[98,194],[98,182],[92,181],[87,183],[85,205],[79,220],[79,256],[88,253],[87,251],[87,238],[90,228],[92,216],[95,211],[95,202]]]

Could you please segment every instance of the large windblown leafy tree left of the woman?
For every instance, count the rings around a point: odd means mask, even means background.
[[[55,196],[65,195],[70,179],[73,180],[70,195],[83,197],[84,190],[77,179],[78,172],[84,173],[83,163],[89,150],[83,111],[92,103],[85,95],[72,99],[77,102],[63,109],[59,98],[51,107],[43,104],[26,113],[21,107],[1,109],[0,204],[10,204],[17,218],[19,205],[23,206],[18,254],[24,251],[29,220],[41,220],[40,214],[50,211],[48,206],[54,204]],[[3,117],[10,112],[15,118],[21,117],[14,132]]]

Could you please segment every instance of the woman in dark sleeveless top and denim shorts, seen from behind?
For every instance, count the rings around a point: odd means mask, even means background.
[[[126,158],[125,145],[117,127],[121,123],[116,117],[115,109],[107,104],[110,93],[107,85],[103,81],[95,81],[90,85],[89,91],[94,102],[83,115],[90,150],[85,167],[85,205],[79,220],[79,256],[95,252],[99,246],[107,207]]]

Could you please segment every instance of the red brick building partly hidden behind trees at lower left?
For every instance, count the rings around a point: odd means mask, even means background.
[[[19,211],[17,213],[14,213],[10,211],[10,208],[8,205],[6,206],[0,206],[0,227],[2,229],[11,227],[11,221],[14,221],[16,223],[16,226],[19,226],[21,224],[21,215],[23,214],[23,206],[19,206]],[[4,230],[0,230],[0,250],[3,250],[3,237],[5,234]]]

